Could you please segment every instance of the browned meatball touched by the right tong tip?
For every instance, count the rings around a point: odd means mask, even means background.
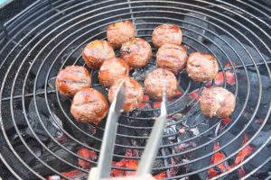
[[[145,77],[145,92],[154,100],[163,99],[163,87],[166,86],[167,98],[172,98],[178,93],[178,80],[171,71],[156,68]]]

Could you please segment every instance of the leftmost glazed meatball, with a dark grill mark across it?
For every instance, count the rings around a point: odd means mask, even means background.
[[[72,97],[81,88],[90,87],[91,79],[86,67],[69,66],[61,69],[55,81],[55,86],[62,95]]]

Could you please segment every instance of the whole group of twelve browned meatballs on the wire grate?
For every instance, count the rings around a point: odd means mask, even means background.
[[[129,70],[144,69],[150,63],[152,47],[143,38],[135,38],[135,27],[129,21],[107,26],[107,40],[92,40],[82,50],[82,58],[88,67],[98,72],[98,81],[108,89],[108,101],[113,102],[119,85],[125,85],[124,112],[134,111],[142,103],[144,93],[154,101],[162,101],[164,86],[168,99],[179,92],[177,75],[186,68],[195,82],[210,81],[218,75],[217,59],[203,52],[189,56],[182,43],[182,31],[178,25],[162,24],[152,34],[156,53],[153,71],[140,82],[129,76]],[[120,58],[114,49],[119,49]],[[153,63],[153,62],[152,62]],[[123,83],[124,82],[124,83]],[[122,84],[123,83],[123,84]],[[79,122],[99,122],[107,116],[109,104],[104,94],[91,87],[91,78],[86,67],[69,66],[61,69],[56,77],[60,94],[72,97],[71,115]],[[201,112],[207,117],[229,117],[235,108],[235,96],[222,87],[206,89],[200,100]]]

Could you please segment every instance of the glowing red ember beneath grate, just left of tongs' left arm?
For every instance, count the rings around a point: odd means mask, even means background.
[[[97,154],[93,150],[89,150],[88,148],[79,148],[79,151],[77,154],[80,157],[84,157],[87,159],[95,160],[97,159]],[[85,161],[83,159],[78,159],[78,165],[82,168],[89,169],[91,167],[91,163],[88,161]]]

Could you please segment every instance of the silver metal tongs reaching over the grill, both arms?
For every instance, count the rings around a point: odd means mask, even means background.
[[[88,180],[100,180],[110,177],[111,162],[113,160],[114,143],[117,134],[117,120],[122,111],[123,103],[125,102],[125,85],[123,81],[118,89],[117,94],[113,102],[110,105],[107,124],[102,140],[102,146],[98,158],[98,166],[92,168],[89,173]],[[151,173],[154,165],[154,158],[157,154],[159,143],[162,139],[165,121],[166,121],[166,94],[165,88],[163,92],[163,102],[161,103],[161,113],[158,118],[155,119],[154,128],[145,146],[143,156],[141,157],[139,166],[135,175],[142,176]]]

